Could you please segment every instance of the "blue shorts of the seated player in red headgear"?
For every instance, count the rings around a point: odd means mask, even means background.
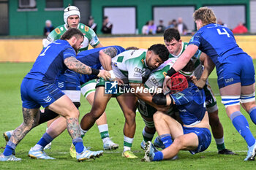
[[[198,137],[198,147],[196,150],[189,150],[193,155],[197,152],[203,152],[211,144],[211,132],[208,128],[188,128],[183,126],[184,134],[194,133]]]

